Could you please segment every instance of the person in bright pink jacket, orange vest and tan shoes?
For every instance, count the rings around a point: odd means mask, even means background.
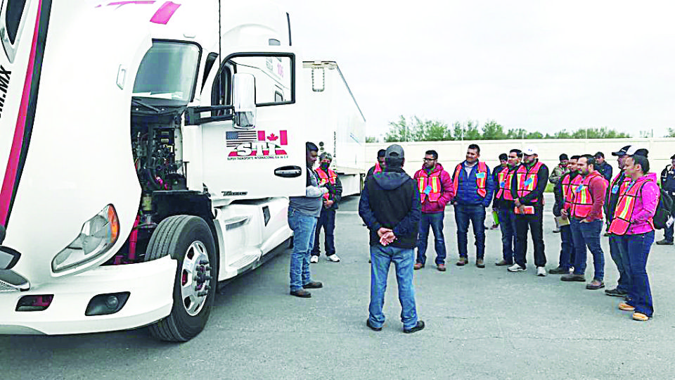
[[[646,321],[654,313],[647,276],[647,258],[654,242],[653,217],[659,204],[660,189],[656,174],[649,172],[649,160],[638,154],[626,158],[624,171],[631,178],[622,188],[610,234],[618,237],[618,246],[627,258],[631,286],[626,302],[619,309],[632,311],[633,319]]]

